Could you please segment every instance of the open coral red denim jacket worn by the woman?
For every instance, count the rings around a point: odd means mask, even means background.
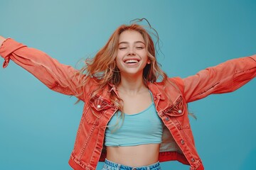
[[[80,87],[85,75],[78,70],[60,64],[57,60],[39,50],[28,48],[12,39],[7,39],[0,49],[4,57],[4,67],[13,60],[48,88],[62,94],[77,96],[85,102],[82,118],[75,140],[75,147],[69,164],[75,170],[96,169],[99,161],[104,161],[105,129],[117,108],[110,102],[110,91],[117,93],[109,84],[95,98],[88,98],[96,86],[96,79],[90,79]],[[149,83],[154,96],[156,111],[164,123],[164,132],[159,151],[159,161],[178,160],[189,164],[191,169],[204,169],[188,121],[187,103],[204,98],[209,94],[234,91],[256,76],[256,55],[229,60],[215,67],[204,69],[185,79],[169,78],[162,82]],[[95,114],[92,114],[94,112]]]

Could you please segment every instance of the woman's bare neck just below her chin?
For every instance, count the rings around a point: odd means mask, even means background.
[[[117,87],[119,92],[125,94],[139,94],[147,90],[147,87],[143,83],[143,77],[136,76],[121,76],[121,82]]]

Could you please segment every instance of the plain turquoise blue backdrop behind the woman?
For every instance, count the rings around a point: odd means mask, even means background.
[[[187,77],[255,54],[255,9],[254,0],[1,0],[0,34],[75,67],[105,45],[117,26],[147,18],[161,38],[164,71]],[[0,81],[0,169],[71,169],[82,103],[50,91],[14,62],[1,69]],[[233,93],[189,103],[198,117],[191,126],[207,170],[255,169],[255,87],[254,79]],[[161,166],[189,169],[178,162]]]

